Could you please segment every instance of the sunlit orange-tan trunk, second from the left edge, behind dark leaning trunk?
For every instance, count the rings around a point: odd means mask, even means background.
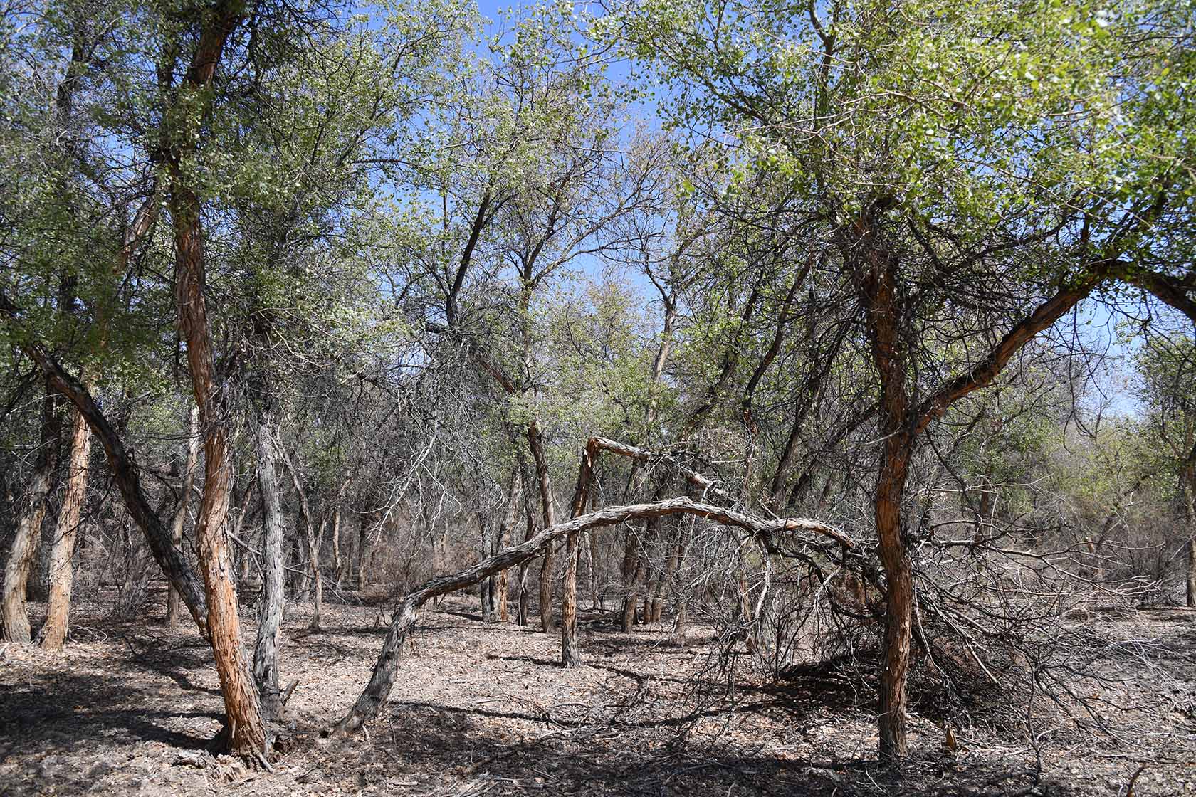
[[[79,535],[79,519],[84,499],[87,497],[87,464],[91,459],[91,429],[87,419],[75,410],[71,413],[71,456],[67,470],[67,489],[59,510],[54,529],[54,547],[50,550],[50,600],[45,609],[45,624],[38,643],[47,650],[61,650],[67,638],[71,620],[71,590],[74,572],[75,539]]]

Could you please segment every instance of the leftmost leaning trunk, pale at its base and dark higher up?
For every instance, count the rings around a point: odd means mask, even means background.
[[[57,464],[59,428],[49,391],[42,399],[42,445],[33,464],[33,476],[26,493],[25,509],[17,521],[17,534],[4,570],[4,600],[0,605],[0,637],[11,642],[30,642],[29,611],[25,589],[33,568],[37,542],[42,535],[45,498],[54,483]]]

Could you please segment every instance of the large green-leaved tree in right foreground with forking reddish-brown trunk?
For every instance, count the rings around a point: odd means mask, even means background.
[[[1186,133],[1161,123],[1183,102],[1164,78],[1190,68],[1173,49],[1191,36],[1180,5],[1084,17],[835,2],[794,16],[645,2],[597,23],[676,86],[676,124],[725,137],[714,157],[732,171],[726,191],[761,173],[791,186],[788,211],[820,228],[852,287],[884,441],[872,497],[886,595],[883,758],[908,749],[904,513],[925,434],[1110,280],[1188,284],[1170,229],[1191,194],[1190,153]],[[952,315],[968,323],[944,327]]]

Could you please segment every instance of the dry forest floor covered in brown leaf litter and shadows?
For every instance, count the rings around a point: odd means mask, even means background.
[[[324,630],[300,636],[306,608],[292,607],[280,662],[299,679],[288,706],[299,736],[273,772],[205,752],[222,704],[194,629],[81,606],[61,656],[0,645],[0,796],[1125,795],[1140,767],[1139,797],[1196,792],[1196,615],[1183,609],[1084,620],[1119,681],[1078,685],[1110,692],[1109,732],[1042,709],[1039,765],[1024,734],[981,713],[956,750],[915,715],[913,756],[895,767],[877,761],[873,699],[850,679],[748,678],[732,695],[709,667],[708,633],[677,646],[667,629],[622,634],[585,612],[587,666],[565,670],[557,636],[483,625],[465,596],[421,615],[417,650],[367,732],[323,738],[385,627],[376,608],[328,603]],[[1008,715],[1017,700],[1003,703]]]

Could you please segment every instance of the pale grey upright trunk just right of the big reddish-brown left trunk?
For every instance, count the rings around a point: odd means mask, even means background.
[[[254,682],[262,713],[268,722],[282,716],[282,687],[279,678],[279,645],[282,640],[282,609],[286,584],[282,562],[282,501],[274,461],[274,417],[263,410],[257,422],[257,488],[262,493],[262,602],[257,614],[254,645]]]

